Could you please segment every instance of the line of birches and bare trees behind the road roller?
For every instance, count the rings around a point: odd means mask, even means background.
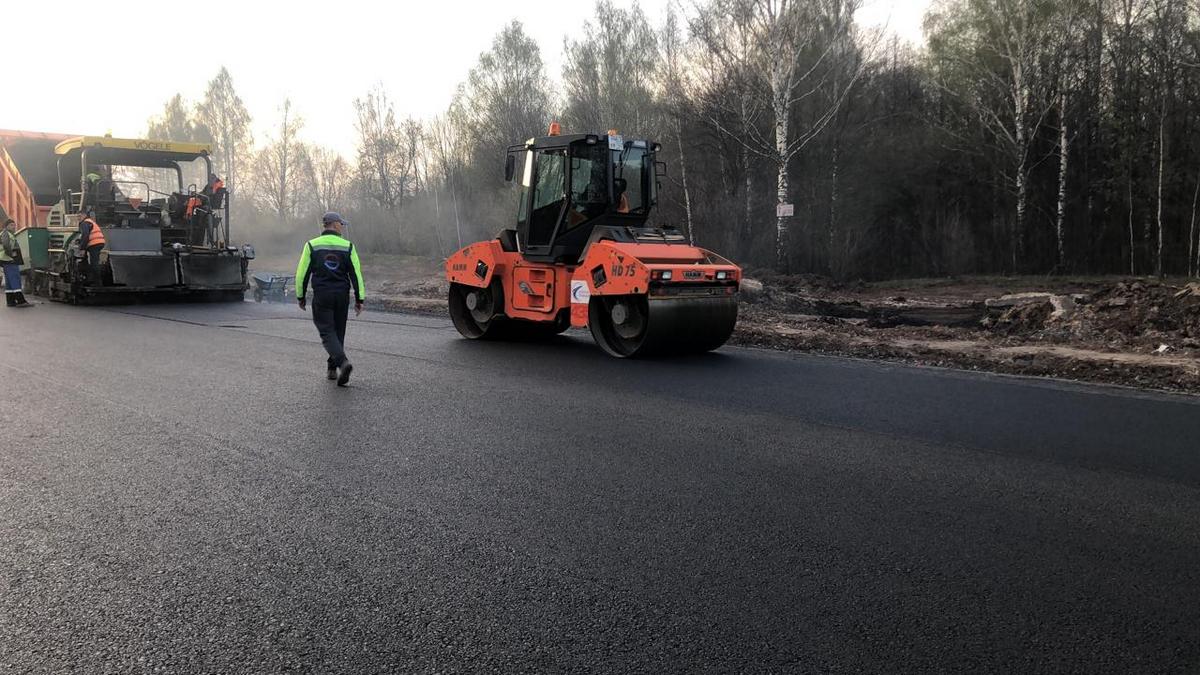
[[[214,143],[251,234],[342,210],[364,250],[444,256],[511,226],[505,148],[558,120],[661,143],[656,223],[754,267],[1200,274],[1195,0],[938,0],[920,47],[858,5],[696,0],[655,23],[601,0],[559,73],[512,22],[440,115],[356,98],[350,157],[288,101],[253,138],[224,68],[148,131]]]

